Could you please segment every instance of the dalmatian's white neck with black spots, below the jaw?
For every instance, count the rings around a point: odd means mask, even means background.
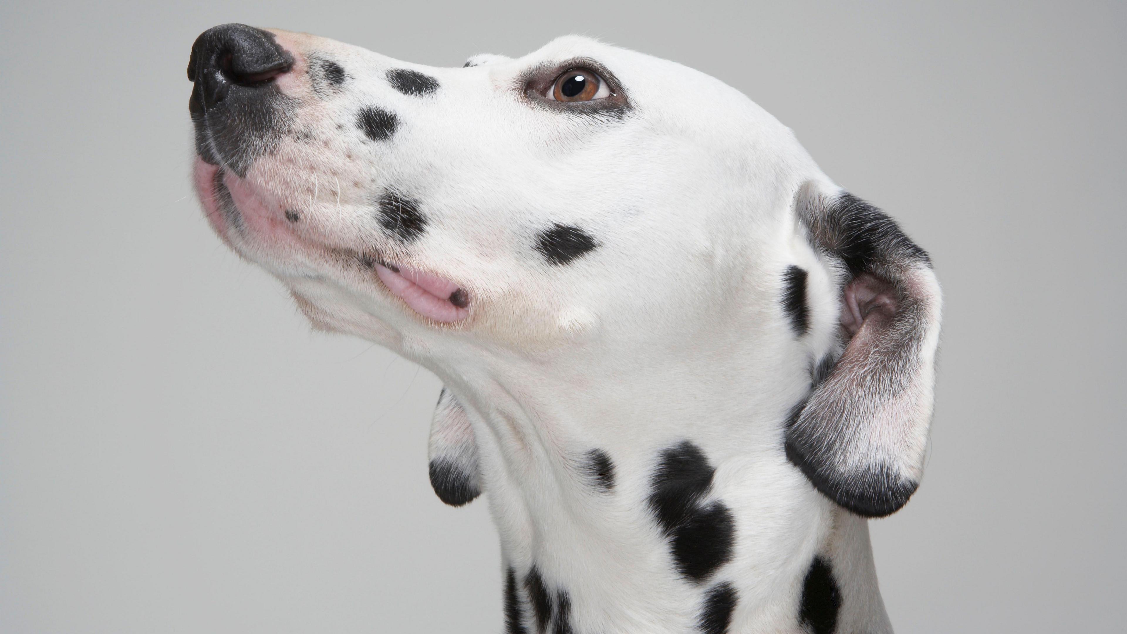
[[[729,608],[733,632],[792,632],[804,596],[837,618],[843,589],[887,631],[866,521],[783,450],[806,354],[749,338],[438,369],[500,534],[509,632],[684,632]]]

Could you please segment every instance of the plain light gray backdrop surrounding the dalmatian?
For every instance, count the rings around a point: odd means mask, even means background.
[[[934,256],[928,474],[872,522],[900,632],[1122,632],[1124,2],[0,8],[0,632],[500,631],[438,382],[309,334],[189,195],[208,26],[435,65],[583,33],[739,88]],[[677,87],[671,86],[671,89]]]

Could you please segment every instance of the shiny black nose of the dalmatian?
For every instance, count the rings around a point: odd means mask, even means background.
[[[192,45],[188,79],[196,82],[192,106],[204,111],[227,98],[232,86],[265,86],[293,68],[274,34],[245,24],[208,28]]]

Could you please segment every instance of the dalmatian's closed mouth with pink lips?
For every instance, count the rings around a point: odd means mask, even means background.
[[[311,241],[293,229],[296,213],[257,195],[236,174],[197,157],[194,168],[196,193],[204,214],[216,234],[232,248],[254,236],[273,250],[320,250],[331,259],[360,263],[374,273],[391,296],[399,298],[418,315],[442,324],[461,322],[470,315],[470,294],[446,278],[390,261],[382,253],[332,247]],[[275,209],[276,208],[276,209]]]

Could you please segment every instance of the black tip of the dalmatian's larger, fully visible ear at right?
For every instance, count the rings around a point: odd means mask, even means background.
[[[885,518],[904,508],[919,488],[915,479],[903,478],[887,465],[845,473],[811,459],[788,435],[787,460],[798,467],[810,484],[835,504],[863,518]]]

